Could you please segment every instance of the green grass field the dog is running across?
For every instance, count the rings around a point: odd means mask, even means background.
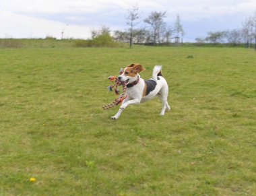
[[[102,110],[129,63],[163,65],[164,117],[157,99]],[[256,193],[253,50],[5,48],[0,73],[0,195]]]

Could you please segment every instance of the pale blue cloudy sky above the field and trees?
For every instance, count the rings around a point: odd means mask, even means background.
[[[174,26],[177,15],[193,42],[207,32],[241,28],[256,11],[256,0],[1,0],[0,38],[90,38],[101,26],[127,30],[127,10],[139,7],[137,28],[152,11],[166,11],[164,21]]]

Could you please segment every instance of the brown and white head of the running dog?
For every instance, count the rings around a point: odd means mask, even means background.
[[[137,79],[138,73],[141,73],[143,70],[145,70],[145,68],[139,63],[132,63],[123,69],[123,73],[120,73],[118,79],[126,82],[134,81]]]

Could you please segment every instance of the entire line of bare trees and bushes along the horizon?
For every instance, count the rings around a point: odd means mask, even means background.
[[[185,34],[181,19],[177,15],[177,19],[173,26],[164,22],[166,18],[166,11],[152,11],[147,18],[140,20],[139,8],[133,6],[128,10],[127,14],[127,30],[115,30],[113,36],[110,36],[110,29],[102,27],[100,30],[92,30],[92,40],[107,39],[116,40],[117,42],[129,43],[130,47],[135,44],[170,44],[171,42],[183,42]],[[143,22],[146,26],[136,28],[136,26]],[[104,39],[103,39],[104,38]],[[256,49],[256,11],[254,15],[247,18],[243,22],[240,29],[222,30],[208,32],[205,38],[196,38],[197,44],[202,43],[226,43],[233,46],[238,44],[245,44],[247,47],[255,46]]]

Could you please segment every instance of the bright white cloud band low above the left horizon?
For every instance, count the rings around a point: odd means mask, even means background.
[[[0,18],[0,37],[3,38],[61,38],[64,28],[65,38],[88,38],[93,26],[66,26],[61,22],[32,18],[9,11],[3,11]]]

